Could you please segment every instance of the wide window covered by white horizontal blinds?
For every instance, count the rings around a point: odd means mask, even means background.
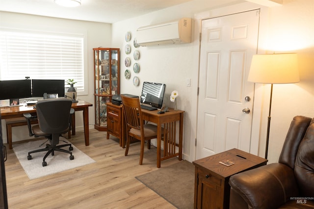
[[[83,92],[83,41],[76,34],[1,30],[0,80],[73,78]]]

